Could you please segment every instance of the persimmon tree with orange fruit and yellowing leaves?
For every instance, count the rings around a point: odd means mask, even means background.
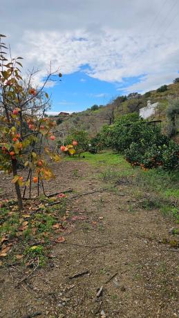
[[[31,196],[32,183],[37,183],[39,195],[40,186],[44,191],[44,180],[54,177],[48,158],[59,161],[54,142],[56,123],[44,116],[49,104],[44,86],[56,73],[50,68],[43,86],[34,88],[34,73],[28,80],[23,79],[22,57],[11,57],[10,48],[2,41],[4,37],[0,35],[0,169],[12,173],[19,209],[23,209],[27,187]],[[20,166],[27,171],[26,180],[19,173]]]

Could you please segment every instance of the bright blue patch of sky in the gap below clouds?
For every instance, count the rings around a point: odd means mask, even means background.
[[[55,82],[52,88],[46,88],[48,95],[52,96],[52,112],[84,111],[93,104],[104,105],[117,97],[125,95],[126,87],[140,82],[139,77],[128,77],[118,82],[106,82],[86,75],[88,66],[83,66],[81,71],[70,75],[63,75],[62,82]],[[58,78],[58,77],[56,77]]]

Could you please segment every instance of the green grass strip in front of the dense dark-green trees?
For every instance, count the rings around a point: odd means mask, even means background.
[[[84,158],[82,158],[84,156]],[[162,198],[179,198],[179,172],[167,172],[162,169],[142,171],[140,167],[131,167],[122,154],[106,151],[92,154],[83,153],[79,157],[66,157],[65,160],[82,160],[93,167],[106,168],[100,177],[106,182],[115,182],[117,178],[133,176],[133,187],[151,191]],[[135,187],[136,188],[136,187]]]

